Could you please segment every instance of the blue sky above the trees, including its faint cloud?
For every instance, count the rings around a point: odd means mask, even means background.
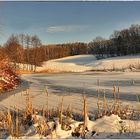
[[[18,33],[43,44],[89,42],[131,24],[140,24],[140,2],[0,2],[0,44]]]

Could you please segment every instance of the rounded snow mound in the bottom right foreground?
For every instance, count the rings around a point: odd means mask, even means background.
[[[91,121],[89,124],[92,124]],[[96,132],[92,137],[90,135],[91,131]],[[130,138],[132,134],[135,138],[135,134],[139,134],[139,131],[140,121],[121,120],[120,117],[112,114],[97,119],[87,136],[88,138]]]

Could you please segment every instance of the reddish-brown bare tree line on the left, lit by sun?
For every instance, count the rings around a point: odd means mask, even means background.
[[[36,66],[40,66],[43,61],[79,54],[87,54],[86,43],[43,45],[37,35],[13,34],[0,47],[1,57],[8,57],[15,67],[17,63],[29,64],[25,68],[27,70],[35,70]]]

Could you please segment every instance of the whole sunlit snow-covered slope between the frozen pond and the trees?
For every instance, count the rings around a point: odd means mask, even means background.
[[[97,60],[93,55],[76,55],[44,62],[37,71],[83,72],[89,70],[140,69],[140,55]]]

